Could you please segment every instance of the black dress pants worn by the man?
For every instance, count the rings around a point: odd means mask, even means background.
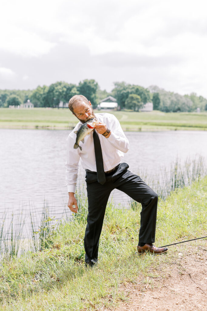
[[[97,174],[86,172],[88,216],[84,237],[85,262],[97,262],[98,246],[106,205],[112,190],[119,189],[142,204],[139,242],[154,243],[157,217],[157,194],[137,175],[121,163],[115,172],[106,174],[106,183],[97,181]]]

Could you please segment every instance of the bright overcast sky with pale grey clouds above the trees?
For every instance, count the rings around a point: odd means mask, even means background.
[[[207,97],[204,0],[2,0],[0,89],[95,79]]]

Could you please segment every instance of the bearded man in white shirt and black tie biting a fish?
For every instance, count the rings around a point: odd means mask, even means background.
[[[68,104],[79,123],[67,139],[66,183],[68,187],[68,207],[78,212],[74,196],[77,181],[79,160],[86,170],[88,195],[88,216],[84,237],[85,263],[92,266],[98,260],[98,246],[103,225],[106,204],[113,189],[119,189],[133,200],[142,204],[138,253],[150,252],[161,254],[167,248],[155,247],[155,227],[157,213],[157,194],[142,179],[128,170],[126,163],[121,163],[123,152],[129,149],[129,142],[113,114],[94,114],[90,101],[83,95],[73,96]],[[76,132],[79,126],[95,116],[97,123],[80,142],[80,148],[74,149]]]

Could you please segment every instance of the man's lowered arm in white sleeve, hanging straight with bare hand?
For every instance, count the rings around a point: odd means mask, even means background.
[[[74,149],[74,139],[69,136],[67,139],[67,154],[66,154],[66,184],[68,188],[68,207],[74,213],[77,213],[78,206],[77,200],[75,198],[75,187],[78,177],[78,167],[79,167],[79,150]]]

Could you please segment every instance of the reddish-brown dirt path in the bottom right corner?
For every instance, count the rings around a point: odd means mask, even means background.
[[[207,311],[207,242],[189,246],[177,250],[173,262],[150,271],[151,277],[122,285],[128,301],[115,311]]]

